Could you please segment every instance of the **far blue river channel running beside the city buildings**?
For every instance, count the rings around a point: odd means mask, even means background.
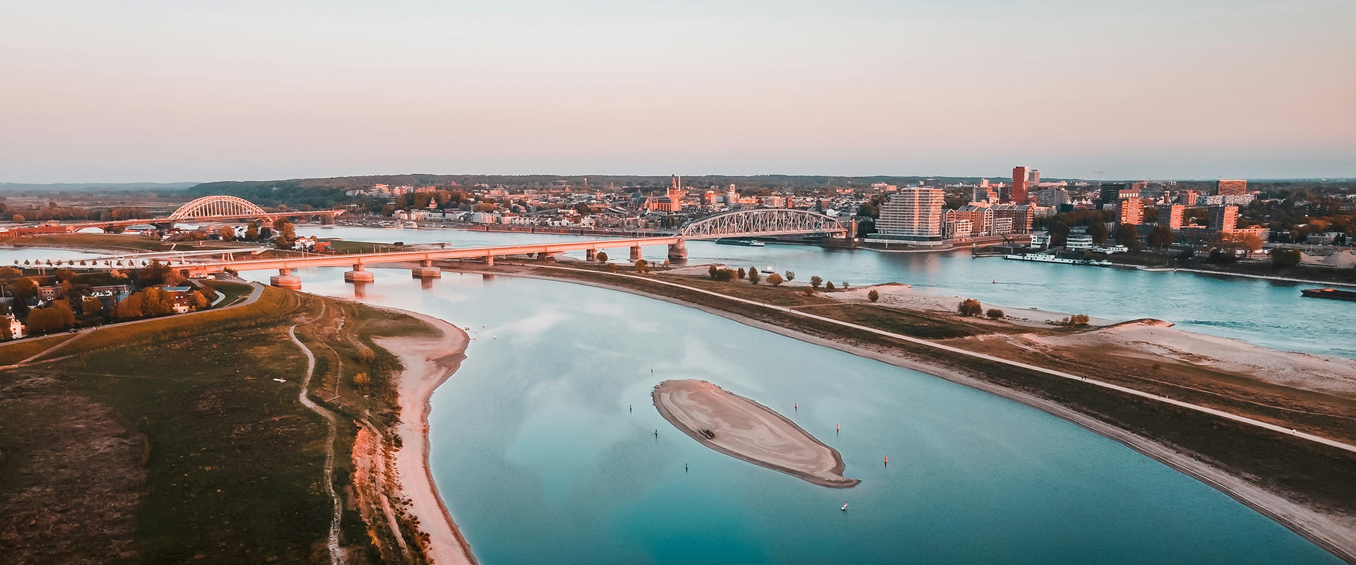
[[[304,234],[355,241],[450,243],[456,247],[580,240],[578,236],[487,233],[449,229],[304,228]],[[590,237],[597,238],[597,237]],[[664,260],[663,247],[645,259]],[[1283,351],[1356,358],[1356,324],[1345,320],[1356,304],[1303,298],[1313,285],[1191,272],[1150,272],[1123,267],[975,259],[970,251],[884,253],[810,245],[736,247],[687,243],[689,263],[728,263],[795,271],[835,283],[902,282],[941,295],[964,295],[1009,308],[1082,313],[1124,321],[1168,320],[1182,329],[1233,337]],[[580,253],[572,253],[582,257]],[[620,248],[613,259],[625,259]],[[1348,314],[1342,314],[1347,312]]]

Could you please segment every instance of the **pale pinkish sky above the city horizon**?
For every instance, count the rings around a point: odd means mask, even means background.
[[[0,182],[1356,176],[1356,0],[0,0]]]

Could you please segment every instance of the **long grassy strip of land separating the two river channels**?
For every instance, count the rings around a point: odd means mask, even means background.
[[[1272,518],[1334,556],[1356,564],[1356,453],[1302,439],[1294,432],[1261,428],[1124,392],[1090,386],[1077,379],[1058,378],[1024,366],[1083,374],[1157,396],[1193,402],[1210,409],[1261,420],[1284,430],[1304,431],[1338,442],[1356,440],[1356,362],[1303,354],[1276,354],[1303,358],[1306,367],[1295,374],[1268,375],[1237,373],[1237,366],[1212,366],[1180,352],[1127,347],[1131,340],[1113,336],[1127,328],[1189,332],[1163,328],[1158,321],[1125,322],[1105,328],[1062,328],[1041,320],[964,318],[922,308],[887,308],[856,304],[850,291],[814,293],[803,287],[772,287],[747,282],[716,282],[702,276],[666,271],[639,274],[629,267],[572,263],[555,267],[551,261],[499,263],[495,267],[445,263],[447,270],[574,282],[645,295],[723,316],[746,325],[777,332],[807,343],[837,348],[906,369],[941,377],[965,386],[1002,396],[1089,431],[1117,440],[1216,488],[1250,508]],[[704,267],[704,266],[702,266]],[[698,267],[685,267],[697,271]],[[894,285],[906,287],[904,285]],[[755,301],[758,304],[747,304]],[[784,310],[815,312],[823,321]],[[1028,312],[1021,312],[1028,316]],[[1054,313],[1047,313],[1054,314]],[[845,324],[835,322],[842,320]],[[850,325],[881,328],[915,340],[960,347],[997,362],[967,355],[938,355],[926,344],[883,337]],[[1100,332],[1100,333],[1098,333]],[[1109,337],[1060,347],[1021,347],[1022,341],[1079,339],[1089,335]],[[1210,337],[1210,336],[1204,336]],[[1241,341],[1218,339],[1227,346],[1218,352],[1229,358],[1239,351],[1271,351]],[[1067,350],[1067,351],[1066,351]],[[1021,362],[1016,362],[1021,359]],[[1246,360],[1253,360],[1252,358]],[[1246,364],[1246,360],[1239,366]],[[1271,367],[1267,367],[1271,369]],[[1267,369],[1254,373],[1265,373]],[[1342,379],[1314,381],[1314,370],[1340,370]],[[1322,386],[1330,385],[1330,386]]]

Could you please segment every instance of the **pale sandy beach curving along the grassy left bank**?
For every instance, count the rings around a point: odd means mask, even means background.
[[[392,466],[400,481],[400,495],[410,500],[408,512],[419,519],[419,528],[428,534],[428,558],[438,564],[476,564],[471,545],[447,512],[438,485],[428,466],[428,398],[465,359],[469,339],[461,328],[443,320],[408,310],[396,310],[414,316],[438,328],[438,337],[377,337],[381,348],[400,358],[405,370],[397,383],[400,392],[400,424],[395,434],[400,436],[401,448],[396,453]]]

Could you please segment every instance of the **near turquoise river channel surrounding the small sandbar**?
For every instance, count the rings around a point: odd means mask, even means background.
[[[353,298],[342,271],[298,275]],[[433,397],[430,440],[487,565],[1338,562],[1116,442],[948,381],[617,291],[373,271],[361,299],[475,337]],[[815,486],[700,446],[650,402],[670,378],[786,415],[862,484]]]

